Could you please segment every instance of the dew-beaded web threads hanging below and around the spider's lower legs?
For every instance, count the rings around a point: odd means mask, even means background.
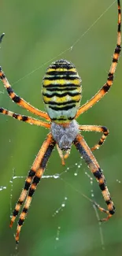
[[[101,246],[102,246],[102,250],[105,250],[105,242],[104,242],[104,238],[103,238],[103,232],[102,232],[102,223],[99,221],[100,220],[100,216],[98,213],[98,210],[96,208],[96,206],[94,206],[94,189],[93,189],[93,183],[94,183],[94,179],[93,177],[87,173],[87,171],[84,170],[85,175],[87,176],[88,180],[90,181],[91,184],[91,198],[89,198],[87,195],[83,194],[82,191],[79,191],[78,189],[76,189],[76,187],[73,187],[72,184],[68,183],[68,181],[65,180],[64,176],[65,173],[70,172],[70,170],[73,170],[73,175],[74,176],[78,176],[79,174],[79,170],[81,169],[82,166],[82,157],[80,157],[81,160],[76,163],[75,165],[72,165],[70,167],[67,167],[65,169],[64,172],[62,173],[55,173],[54,175],[43,175],[42,179],[60,179],[61,181],[63,181],[65,184],[67,184],[69,187],[72,188],[73,191],[76,191],[76,193],[78,193],[79,195],[81,195],[82,197],[86,198],[87,200],[89,200],[92,203],[92,206],[94,208],[94,213],[96,215],[97,221],[98,221],[98,230],[99,230],[99,236],[100,236],[100,242],[101,242]],[[11,180],[9,181],[9,183],[11,184],[11,188],[10,188],[10,217],[13,215],[13,206],[12,206],[12,201],[13,201],[13,181],[16,179],[22,179],[25,180],[26,176],[16,176],[15,175],[15,169],[13,169],[13,176],[11,178]],[[120,180],[117,180],[120,183]],[[67,208],[67,202],[68,200],[70,200],[69,197],[65,196],[65,198],[63,198],[63,200],[61,201],[61,203],[59,203],[59,206],[57,207],[56,210],[54,210],[54,213],[52,213],[52,217],[58,217],[59,214],[63,213],[65,211],[65,208]],[[55,244],[54,244],[54,249],[57,249],[57,242],[60,239],[60,233],[61,233],[61,226],[58,225],[57,226],[57,232],[56,232],[56,236],[55,236]],[[16,247],[17,250],[17,247]]]

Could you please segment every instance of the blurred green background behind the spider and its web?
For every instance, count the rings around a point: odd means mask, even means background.
[[[0,49],[0,64],[17,94],[31,102],[33,106],[44,110],[41,83],[45,70],[52,62],[52,58],[54,60],[65,58],[76,65],[79,76],[82,77],[82,102],[91,98],[105,83],[109,72],[111,56],[116,45],[116,2],[86,35],[83,37],[82,35],[112,3],[112,0],[62,0],[61,2],[1,0],[0,32],[5,32],[6,36]],[[79,41],[72,50],[66,50],[77,39]],[[64,50],[65,53],[61,54]],[[61,55],[57,57],[58,54]],[[39,69],[33,72],[37,68]],[[9,181],[13,176],[13,169],[16,176],[27,176],[48,131],[1,115],[0,186],[6,186],[6,190],[0,191],[1,256],[121,255],[122,183],[117,181],[122,182],[121,69],[120,58],[115,81],[109,94],[78,120],[79,124],[105,125],[110,130],[104,146],[94,152],[104,170],[116,206],[116,215],[107,223],[102,223],[105,250],[102,250],[94,208],[91,202],[83,198],[81,192],[91,198],[91,189],[93,189],[94,199],[101,206],[105,207],[105,203],[95,180],[91,187],[90,180],[85,175],[85,172],[89,172],[87,165],[80,159],[75,148],[72,148],[65,167],[61,166],[57,150],[54,150],[45,174],[51,176],[54,173],[65,172],[67,168],[69,170],[59,179],[41,180],[20,233],[18,251],[15,250],[13,234],[16,232],[17,222],[10,230],[10,203],[13,208],[24,186],[24,179],[17,178],[13,180],[13,184]],[[20,80],[23,77],[24,79]],[[0,91],[0,106],[15,113],[27,114],[24,109],[10,100],[2,83],[0,83]],[[86,132],[84,136],[90,146],[97,143],[100,138],[100,134],[91,132]],[[78,175],[74,176],[77,172],[76,163],[79,162],[82,166]],[[65,197],[68,198],[66,206],[53,217]],[[99,215],[104,217],[104,213]],[[61,229],[57,241],[58,227]]]

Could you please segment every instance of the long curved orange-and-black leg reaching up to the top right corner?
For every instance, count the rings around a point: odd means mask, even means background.
[[[118,5],[118,29],[117,29],[117,43],[116,43],[116,48],[114,50],[113,54],[113,61],[112,65],[109,69],[109,74],[108,74],[108,79],[107,82],[103,85],[103,87],[97,92],[96,95],[94,95],[93,98],[91,98],[88,102],[86,102],[83,106],[79,108],[79,110],[76,113],[76,118],[79,117],[81,113],[84,113],[87,111],[87,109],[90,109],[91,106],[94,106],[96,102],[98,102],[108,91],[109,88],[113,84],[113,75],[116,71],[116,65],[120,56],[120,50],[121,50],[121,11],[120,11],[120,0],[117,0],[117,5]]]

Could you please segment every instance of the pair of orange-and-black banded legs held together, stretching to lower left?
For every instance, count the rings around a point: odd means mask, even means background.
[[[37,157],[35,158],[35,161],[33,165],[31,166],[31,170],[28,173],[28,177],[25,180],[24,184],[24,189],[22,190],[20,194],[20,198],[18,199],[17,205],[15,206],[15,209],[13,210],[13,217],[11,218],[10,221],[10,228],[13,226],[13,222],[15,221],[22,203],[24,202],[24,199],[26,198],[26,201],[24,203],[24,209],[22,210],[22,213],[20,214],[20,219],[18,221],[18,226],[17,226],[17,236],[16,236],[16,241],[18,242],[19,240],[19,234],[20,234],[20,228],[24,222],[24,218],[26,217],[26,214],[28,212],[28,208],[31,203],[31,197],[35,192],[35,189],[37,187],[37,184],[39,183],[39,180],[43,176],[43,172],[46,169],[46,163],[48,159],[50,158],[50,154],[52,150],[54,149],[55,146],[55,141],[52,138],[52,135],[49,133],[47,135],[47,138],[45,142],[43,143],[43,146],[39,150],[39,153],[37,154]]]

